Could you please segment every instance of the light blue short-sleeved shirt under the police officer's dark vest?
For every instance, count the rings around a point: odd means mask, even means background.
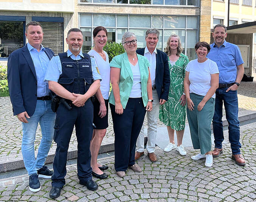
[[[80,53],[75,56],[72,54],[70,50],[67,50],[67,57],[70,57],[73,60],[81,60],[81,57],[84,57],[82,50]],[[97,72],[97,63],[95,62],[94,58],[91,58],[91,67],[92,67],[92,77],[94,80],[100,80],[101,76]],[[44,77],[44,81],[48,83],[48,81],[56,81],[58,82],[59,76],[62,74],[62,67],[61,67],[61,60],[59,59],[59,55],[52,58],[50,63],[48,64],[47,71]]]

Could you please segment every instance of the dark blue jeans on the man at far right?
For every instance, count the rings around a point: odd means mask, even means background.
[[[215,148],[222,148],[224,140],[222,125],[222,106],[224,103],[226,111],[226,119],[228,121],[228,139],[233,154],[240,154],[241,144],[240,128],[238,120],[238,99],[237,90],[229,90],[228,88],[218,88],[215,92],[215,112],[212,119],[214,144]]]

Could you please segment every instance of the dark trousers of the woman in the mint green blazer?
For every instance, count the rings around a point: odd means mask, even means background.
[[[119,115],[115,106],[109,104],[115,133],[115,170],[126,171],[135,164],[136,141],[142,127],[146,108],[142,98],[129,98],[128,103]]]

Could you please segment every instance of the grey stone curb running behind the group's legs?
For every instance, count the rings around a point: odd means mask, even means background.
[[[249,113],[247,115],[243,115],[239,117],[239,121],[249,121],[251,119],[256,118],[256,113]],[[228,121],[224,120],[223,121],[223,126],[227,126]],[[212,129],[212,125],[211,125]],[[145,142],[147,142],[147,137],[145,137]],[[100,146],[100,152],[99,153],[107,153],[114,151],[114,143],[110,144],[105,144]],[[77,150],[69,151],[67,154],[67,160],[72,160],[77,158]],[[48,155],[46,158],[45,164],[52,164],[54,159],[54,154]],[[5,173],[5,172],[10,172],[10,171],[15,171],[15,170],[20,170],[23,169],[24,163],[22,159],[16,160],[16,161],[8,161],[8,162],[3,162],[0,164],[0,173]]]

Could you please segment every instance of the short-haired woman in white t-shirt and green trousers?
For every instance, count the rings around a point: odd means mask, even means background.
[[[201,153],[193,160],[205,159],[205,166],[212,166],[211,122],[214,115],[215,90],[219,86],[217,64],[206,58],[210,51],[206,42],[195,44],[197,59],[187,64],[184,91],[187,99],[187,120],[194,149]]]

